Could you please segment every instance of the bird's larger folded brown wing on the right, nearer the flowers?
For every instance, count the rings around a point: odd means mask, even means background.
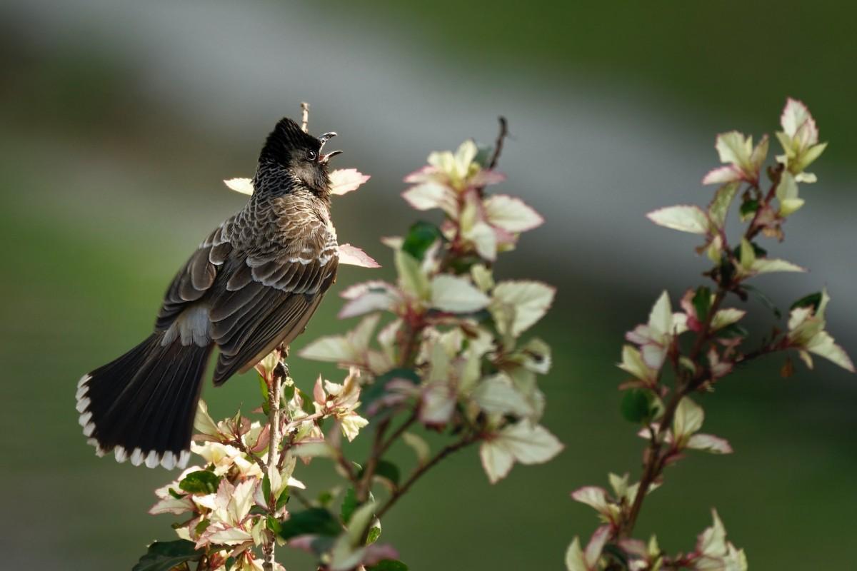
[[[220,348],[215,384],[297,337],[336,279],[336,236],[321,220],[296,224],[290,234],[285,249],[237,260],[213,297],[209,318]]]

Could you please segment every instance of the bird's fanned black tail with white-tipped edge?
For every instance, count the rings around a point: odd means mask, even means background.
[[[77,384],[83,433],[96,454],[115,450],[117,461],[139,466],[185,467],[212,346],[161,345],[153,333],[117,360]]]

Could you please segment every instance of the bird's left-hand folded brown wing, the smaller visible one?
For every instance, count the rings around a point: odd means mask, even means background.
[[[189,303],[200,300],[213,286],[220,269],[232,253],[229,232],[233,218],[229,218],[208,235],[190,257],[164,296],[158,312],[155,330],[167,330]]]

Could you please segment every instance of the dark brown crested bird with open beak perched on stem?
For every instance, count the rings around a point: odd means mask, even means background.
[[[328,162],[319,137],[283,118],[267,136],[244,207],[202,241],[173,278],[153,333],[84,375],[76,409],[99,456],[186,467],[207,363],[213,384],[300,335],[336,281]]]

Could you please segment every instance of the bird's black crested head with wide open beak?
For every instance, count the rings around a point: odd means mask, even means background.
[[[320,199],[329,199],[327,164],[341,151],[325,153],[323,149],[335,136],[335,133],[326,133],[316,138],[304,133],[291,119],[281,119],[268,135],[259,155],[256,187],[272,193],[286,193],[297,185],[306,187]]]

